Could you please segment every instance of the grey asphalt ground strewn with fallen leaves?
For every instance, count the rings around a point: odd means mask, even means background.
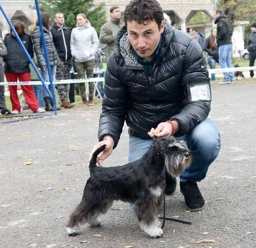
[[[151,239],[127,203],[115,202],[102,226],[69,237],[65,224],[81,200],[100,107],[0,125],[1,248],[255,248],[256,83],[212,84],[210,117],[222,136],[219,157],[201,183],[201,212],[187,212],[177,190],[166,199],[164,236]],[[127,127],[105,166],[127,161]],[[215,241],[197,243],[200,240]]]

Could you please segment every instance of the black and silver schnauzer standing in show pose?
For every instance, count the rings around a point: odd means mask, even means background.
[[[136,205],[140,228],[144,232],[153,238],[162,236],[157,215],[165,189],[162,171],[166,166],[171,176],[178,176],[189,167],[191,156],[186,142],[173,136],[156,138],[139,160],[108,168],[96,165],[97,156],[105,147],[101,146],[92,155],[90,177],[82,201],[70,215],[67,233],[78,235],[86,223],[99,226],[100,216],[107,213],[114,200],[121,200]]]

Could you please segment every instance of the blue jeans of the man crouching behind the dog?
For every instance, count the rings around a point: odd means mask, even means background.
[[[192,163],[182,172],[180,180],[182,182],[203,180],[221,147],[220,135],[215,123],[206,118],[186,135],[175,138],[186,141],[192,156]],[[152,142],[152,139],[143,140],[130,136],[128,162],[140,159],[149,150]]]

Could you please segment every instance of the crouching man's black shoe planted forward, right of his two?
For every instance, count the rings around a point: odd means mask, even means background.
[[[204,200],[196,182],[180,182],[180,188],[185,199],[186,209],[199,211],[204,208]]]

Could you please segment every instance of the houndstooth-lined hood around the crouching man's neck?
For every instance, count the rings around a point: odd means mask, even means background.
[[[165,55],[165,52],[168,49],[170,41],[173,37],[173,27],[170,24],[165,23],[165,29],[162,33],[162,47],[159,51],[157,60],[161,60],[161,58]],[[128,32],[125,25],[123,25],[117,35],[116,35],[116,47],[124,59],[124,64],[127,66],[136,66],[136,67],[143,67],[136,59],[134,55],[134,50],[128,38]]]

